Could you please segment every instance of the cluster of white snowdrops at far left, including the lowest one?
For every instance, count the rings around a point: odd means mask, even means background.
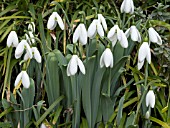
[[[16,47],[15,49],[15,58],[19,59],[24,55],[24,62],[27,62],[28,59],[34,58],[38,63],[41,63],[41,55],[36,47],[32,47],[32,44],[35,43],[35,24],[31,22],[28,25],[28,34],[25,34],[26,39],[22,39],[19,43],[17,33],[15,31],[11,31],[7,38],[7,46],[8,47]],[[22,83],[25,88],[29,88],[30,79],[24,68],[16,77],[15,86],[18,86],[19,83]]]

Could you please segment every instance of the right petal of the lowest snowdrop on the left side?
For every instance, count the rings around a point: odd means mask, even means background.
[[[26,71],[22,71],[22,84],[24,88],[30,87],[30,79]]]

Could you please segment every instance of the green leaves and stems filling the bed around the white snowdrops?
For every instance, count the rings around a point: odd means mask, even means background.
[[[135,1],[133,15],[120,13],[122,1],[71,1],[71,0],[4,0],[0,2],[0,127],[22,128],[48,127],[73,128],[137,128],[170,127],[170,49],[169,49],[169,1]],[[52,12],[58,12],[64,21],[62,31],[58,24],[47,29]],[[124,32],[135,25],[142,36],[146,29],[155,27],[163,45],[151,44],[152,63],[145,63],[144,70],[137,70],[137,54],[142,42],[128,38],[127,49],[120,43],[111,46],[105,33],[88,39],[82,46],[73,44],[73,33],[79,23],[86,29],[97,14],[102,14],[110,29],[115,24]],[[6,40],[15,30],[19,41],[25,39],[28,24],[35,23],[32,46],[38,48],[42,63],[35,60],[15,59],[15,48],[8,48]],[[113,68],[100,67],[100,57],[110,45]],[[67,76],[67,66],[73,54],[78,55],[85,66]],[[24,67],[25,66],[25,67]],[[16,76],[27,70],[30,87],[14,87]],[[156,95],[156,104],[149,119],[145,117],[145,96],[149,89]]]

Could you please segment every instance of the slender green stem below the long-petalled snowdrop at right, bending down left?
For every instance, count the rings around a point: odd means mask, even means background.
[[[144,90],[144,92],[143,92],[143,94],[142,94],[142,97],[141,97],[141,99],[140,99],[140,101],[139,101],[139,104],[138,104],[138,106],[137,106],[136,114],[135,114],[135,117],[134,117],[134,119],[133,119],[132,124],[134,124],[135,121],[137,120],[138,113],[139,113],[139,109],[140,109],[140,107],[141,107],[141,105],[142,105],[142,102],[143,102],[143,100],[144,100],[144,97],[145,97],[145,95],[146,95],[146,93],[147,93],[147,91],[148,91],[148,86],[149,86],[149,85],[147,85],[147,78],[148,78],[148,62],[146,62],[146,67],[145,67],[145,82],[144,82],[144,86],[145,86],[146,88],[145,88],[145,90]]]

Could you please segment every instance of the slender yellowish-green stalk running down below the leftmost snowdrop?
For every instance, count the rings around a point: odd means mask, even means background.
[[[11,62],[12,49],[13,48],[10,47],[9,52],[8,52],[7,68],[6,68],[6,73],[5,73],[4,87],[2,91],[2,99],[4,98],[5,88],[7,87],[7,80],[8,80],[8,75],[9,75],[9,67],[10,67],[10,62]],[[8,90],[10,90],[10,84],[8,85]]]

